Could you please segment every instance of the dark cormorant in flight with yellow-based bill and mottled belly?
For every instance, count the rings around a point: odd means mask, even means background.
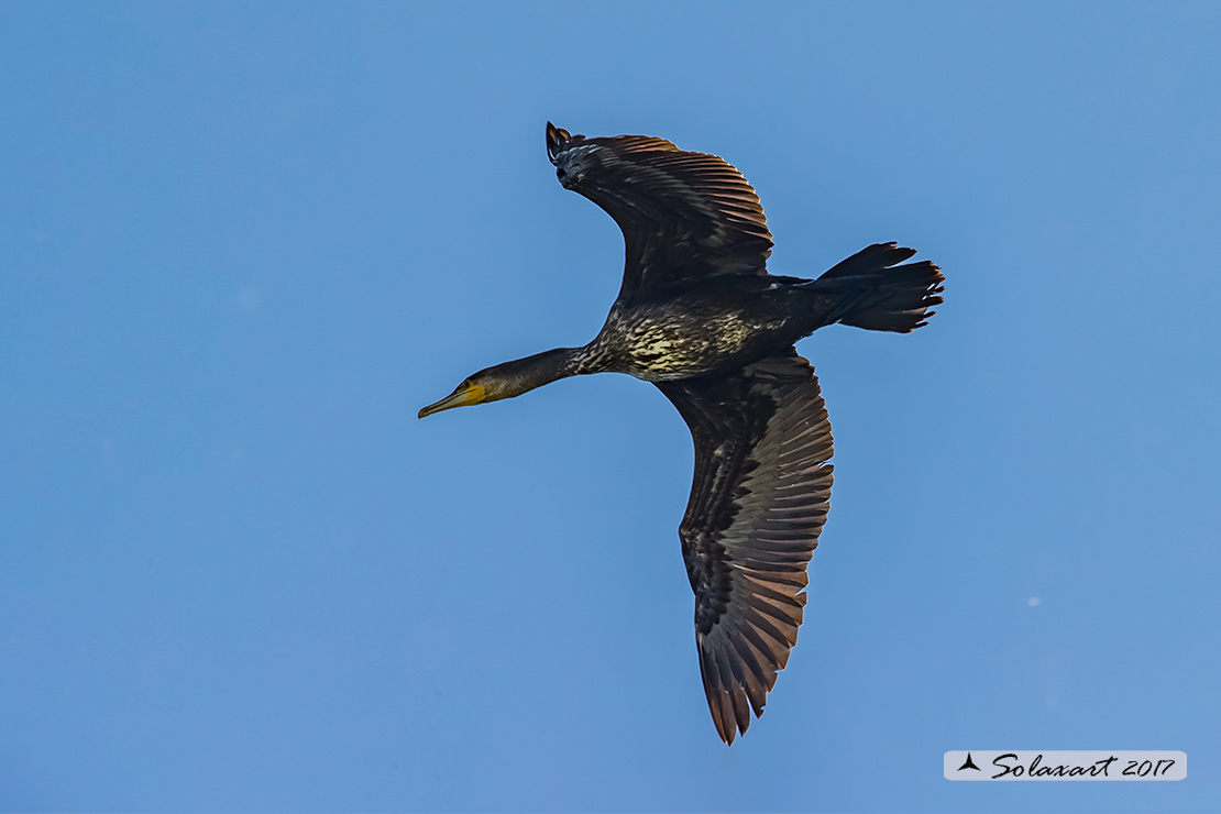
[[[700,672],[717,732],[733,743],[763,714],[797,641],[806,566],[832,493],[832,427],[795,343],[821,327],[907,333],[941,303],[944,277],[878,243],[818,279],[769,275],[772,233],[755,189],[723,159],[646,135],[586,138],[547,123],[565,188],[623,231],[623,286],[580,348],[488,367],[420,417],[513,398],[567,376],[652,382],[695,441],[679,526],[695,592]]]

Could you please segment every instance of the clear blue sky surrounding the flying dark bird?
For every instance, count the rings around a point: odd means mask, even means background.
[[[1221,6],[0,6],[0,809],[1201,812],[1221,799]],[[772,270],[939,262],[803,340],[801,639],[725,748],[543,123],[717,153]],[[1182,749],[951,783],[947,749]]]

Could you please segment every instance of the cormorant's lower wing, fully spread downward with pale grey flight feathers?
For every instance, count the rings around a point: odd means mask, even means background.
[[[731,377],[662,382],[695,438],[679,527],[695,591],[708,708],[726,743],[763,714],[797,642],[832,494],[832,427],[810,362],[764,359]]]

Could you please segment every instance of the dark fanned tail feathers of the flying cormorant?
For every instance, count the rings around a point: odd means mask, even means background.
[[[915,254],[896,243],[874,243],[811,283],[819,290],[850,294],[828,322],[897,333],[928,325],[935,314],[929,309],[944,301],[945,277],[928,260],[896,265]]]

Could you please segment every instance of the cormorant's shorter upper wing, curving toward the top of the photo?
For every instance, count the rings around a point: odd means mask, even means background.
[[[623,229],[620,297],[684,277],[766,275],[772,233],[755,189],[723,159],[647,135],[585,138],[547,122],[559,182]]]

